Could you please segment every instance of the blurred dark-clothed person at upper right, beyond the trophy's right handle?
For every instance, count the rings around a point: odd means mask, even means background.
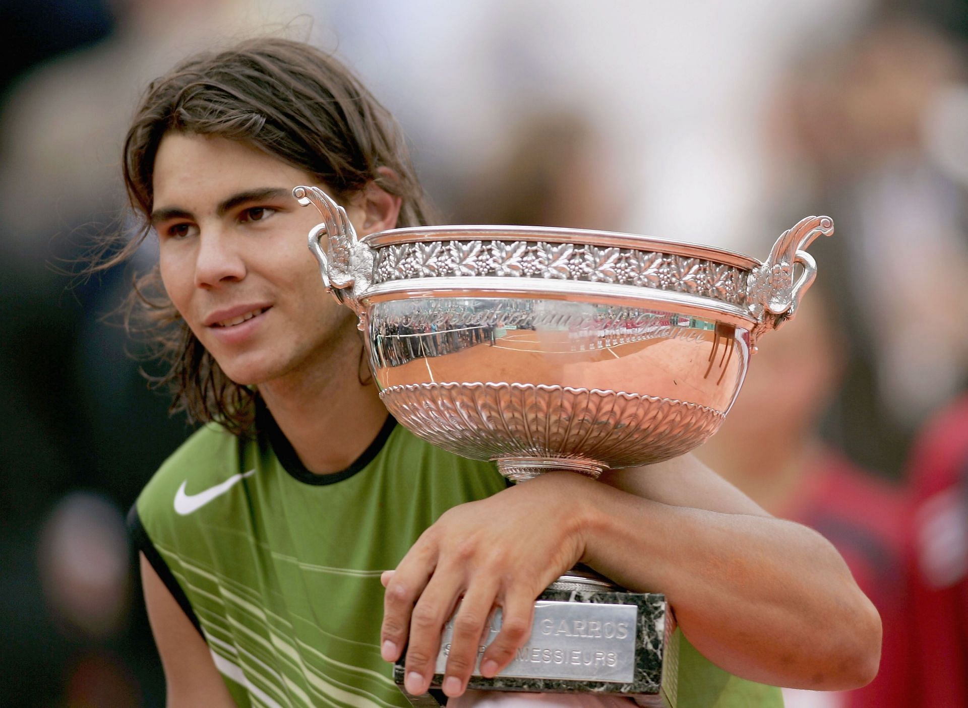
[[[779,102],[772,201],[837,228],[818,261],[849,349],[825,432],[892,477],[968,381],[968,338],[952,326],[968,321],[964,75],[951,39],[891,18],[815,52]]]

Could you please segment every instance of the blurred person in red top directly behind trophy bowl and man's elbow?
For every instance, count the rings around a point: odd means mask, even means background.
[[[825,278],[827,262],[818,262]],[[784,690],[787,708],[907,708],[921,705],[911,671],[907,506],[899,489],[819,436],[845,360],[844,334],[831,311],[815,285],[796,318],[760,340],[740,397],[698,455],[772,515],[823,534],[881,613],[877,678],[846,693]]]

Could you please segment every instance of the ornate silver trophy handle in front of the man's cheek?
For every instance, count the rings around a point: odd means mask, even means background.
[[[356,237],[347,211],[318,187],[299,186],[292,196],[302,206],[313,204],[322,215],[322,222],[309,232],[309,250],[319,264],[319,275],[327,292],[351,310],[359,312],[356,294],[370,284],[373,253]],[[326,248],[322,246],[325,235]]]

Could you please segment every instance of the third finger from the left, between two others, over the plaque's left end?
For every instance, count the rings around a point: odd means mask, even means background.
[[[486,632],[491,609],[498,593],[498,583],[478,579],[464,595],[454,613],[443,693],[456,698],[464,693],[470,674],[477,664],[482,635]]]

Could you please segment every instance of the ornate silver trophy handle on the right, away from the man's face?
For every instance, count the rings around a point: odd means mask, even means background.
[[[793,319],[807,289],[817,277],[817,262],[805,249],[820,235],[833,233],[830,217],[807,217],[784,231],[770,251],[770,257],[750,272],[746,286],[749,311],[756,318],[752,339],[779,329]],[[794,266],[802,274],[793,280]]]

